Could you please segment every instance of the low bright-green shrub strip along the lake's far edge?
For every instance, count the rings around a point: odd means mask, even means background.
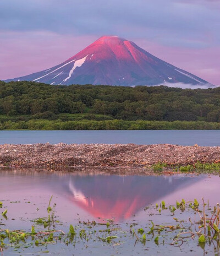
[[[0,124],[1,130],[219,130],[220,123],[204,121],[124,121],[124,120],[30,120]]]

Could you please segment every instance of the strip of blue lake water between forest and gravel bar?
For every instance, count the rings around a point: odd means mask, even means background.
[[[1,130],[0,144],[178,144],[219,146],[220,130]]]

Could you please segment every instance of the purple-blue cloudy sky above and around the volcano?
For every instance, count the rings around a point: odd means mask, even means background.
[[[103,35],[220,85],[220,0],[0,0],[0,79],[41,71]]]

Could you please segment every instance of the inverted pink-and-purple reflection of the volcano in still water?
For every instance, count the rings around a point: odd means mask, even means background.
[[[94,217],[129,219],[138,210],[201,177],[182,176],[70,176],[68,197]]]

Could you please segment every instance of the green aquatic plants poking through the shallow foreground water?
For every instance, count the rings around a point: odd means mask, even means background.
[[[127,241],[133,241],[136,244],[142,244],[142,247],[160,247],[173,246],[185,249],[193,243],[193,248],[197,245],[204,250],[204,254],[208,251],[220,255],[220,208],[209,205],[208,201],[201,199],[201,203],[194,199],[185,201],[184,199],[177,201],[175,205],[166,205],[162,201],[155,206],[146,206],[144,210],[146,215],[158,216],[157,223],[149,220],[146,216],[146,225],[142,226],[138,223],[131,222],[122,227],[114,222],[114,219],[97,222],[82,221],[80,217],[76,225],[69,225],[68,228],[58,220],[56,216],[56,204],[51,207],[52,197],[47,207],[47,217],[40,217],[31,221],[29,230],[9,230],[7,228],[7,216],[0,221],[0,252],[13,249],[19,252],[19,249],[31,247],[32,252],[50,252],[48,245],[62,244],[63,246],[73,245],[73,249],[78,247],[86,249],[92,248],[95,243],[96,247],[110,246],[111,248],[120,246]],[[4,206],[4,203],[1,202]],[[161,217],[160,217],[161,216]],[[170,216],[163,223],[163,216]],[[181,218],[181,219],[180,219]],[[160,221],[159,221],[160,220]],[[66,229],[58,229],[62,226]],[[113,247],[112,247],[113,246]],[[69,247],[68,247],[69,248]],[[213,254],[212,254],[213,255]]]

